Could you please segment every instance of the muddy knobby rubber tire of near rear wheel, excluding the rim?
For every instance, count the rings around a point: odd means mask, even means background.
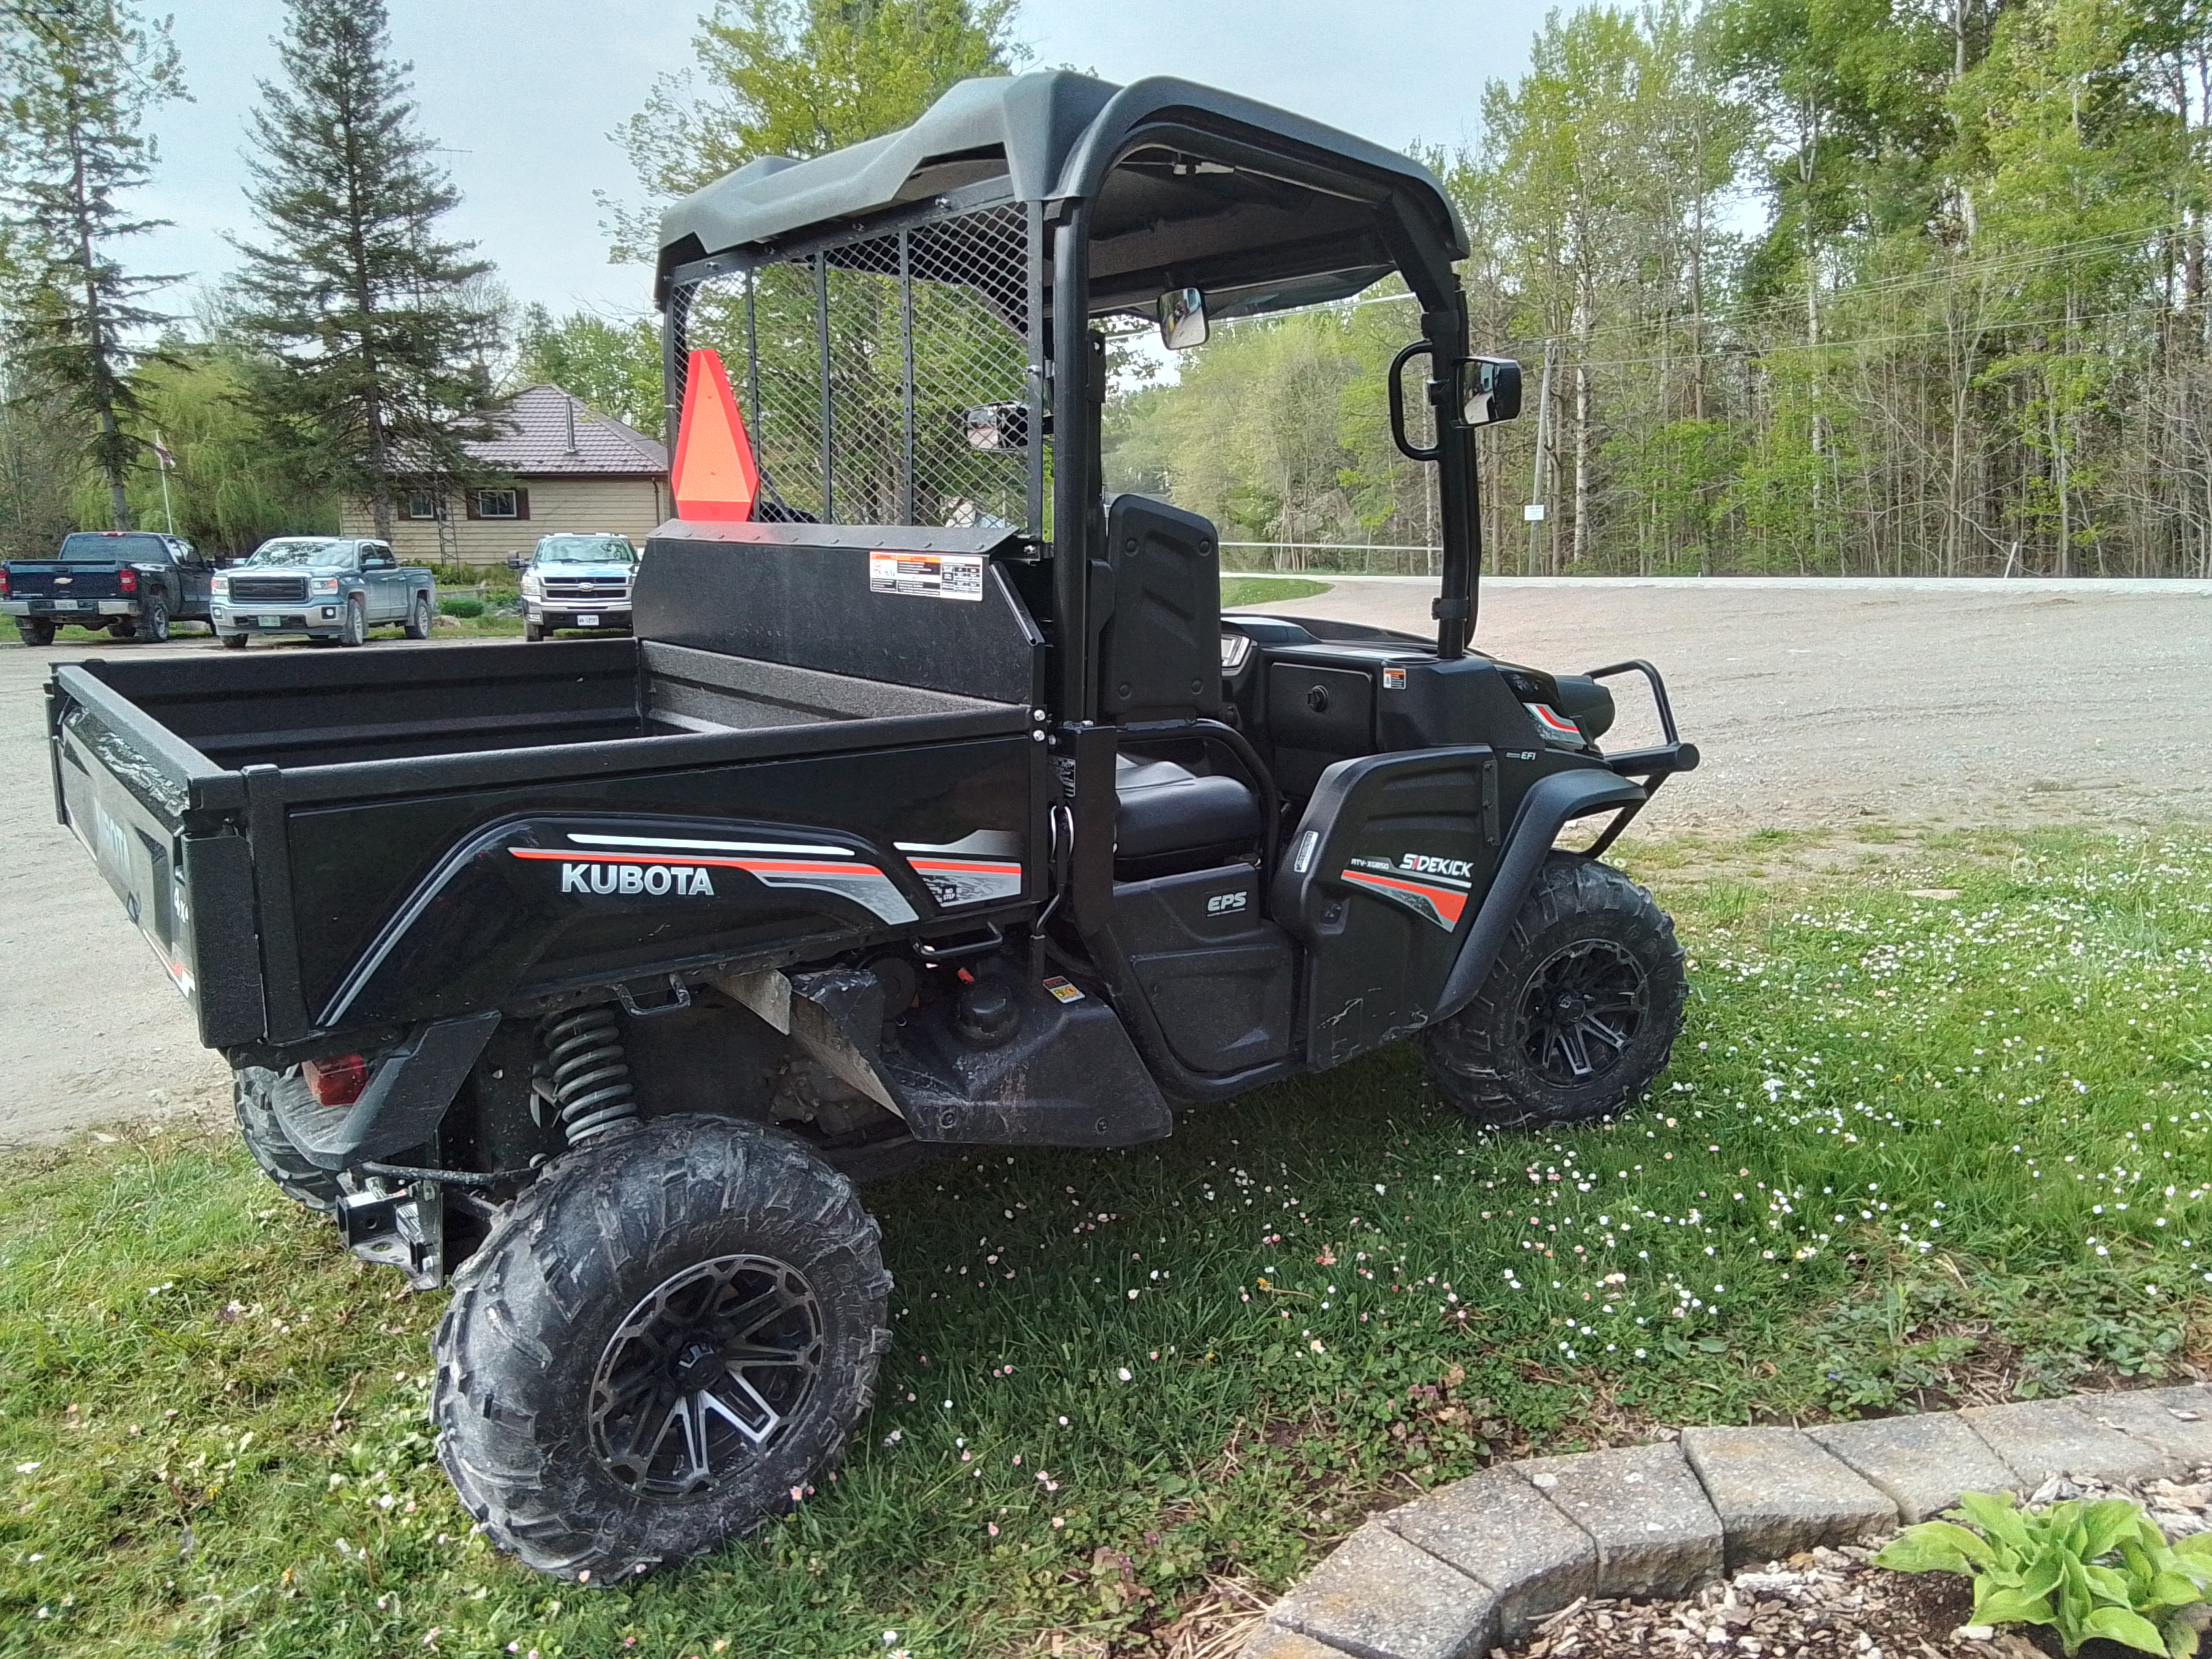
[[[717,1230],[765,1234],[807,1274],[830,1352],[765,1455],[714,1493],[657,1500],[599,1469],[588,1389],[575,1391],[573,1422],[549,1420],[562,1405],[549,1371],[568,1332],[566,1347],[591,1347],[588,1371],[602,1327],[666,1276],[686,1239],[699,1239],[692,1259],[726,1252]],[[759,1124],[661,1117],[564,1155],[453,1276],[438,1321],[431,1416],[462,1506],[498,1548],[593,1586],[690,1559],[792,1509],[792,1486],[836,1467],[891,1343],[878,1237],[843,1175]]]

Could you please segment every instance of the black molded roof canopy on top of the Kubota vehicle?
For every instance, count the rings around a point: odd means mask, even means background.
[[[898,133],[761,157],[661,215],[655,292],[684,265],[779,248],[951,190],[1091,204],[1091,312],[1206,288],[1214,316],[1343,299],[1400,270],[1431,310],[1467,254],[1442,186],[1378,144],[1183,80],[964,80]]]

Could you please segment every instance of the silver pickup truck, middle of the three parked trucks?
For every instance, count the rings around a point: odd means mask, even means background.
[[[219,573],[212,595],[215,635],[232,650],[257,633],[363,646],[369,628],[387,622],[409,639],[429,639],[436,608],[429,571],[356,535],[279,535]]]

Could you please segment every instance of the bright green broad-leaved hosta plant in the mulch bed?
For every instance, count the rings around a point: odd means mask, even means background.
[[[2104,1498],[2044,1511],[2011,1493],[1960,1495],[1951,1520],[1907,1526],[1874,1557],[1898,1573],[1964,1573],[1973,1624],[2048,1624],[2066,1652],[2106,1637],[2190,1659],[2212,1590],[2212,1533],[2168,1544],[2141,1504]]]

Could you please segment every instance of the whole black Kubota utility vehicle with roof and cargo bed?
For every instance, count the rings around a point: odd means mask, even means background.
[[[1409,1035],[1484,1124],[1635,1097],[1683,964],[1597,854],[1697,761],[1644,664],[1469,650],[1475,427],[1520,376],[1469,354],[1467,239],[1405,157],[1024,75],[664,226],[670,411],[712,369],[757,500],[661,526],[633,639],[51,686],[62,818],[237,1066],[254,1155],[356,1252],[453,1270],[469,1511],[593,1584],[838,1455],[889,1343],[854,1179],[1148,1141]],[[1436,637],[1223,617],[1212,524],[1102,498],[1102,323],[1186,343],[1391,274]],[[1666,741],[1604,754],[1624,672]]]

